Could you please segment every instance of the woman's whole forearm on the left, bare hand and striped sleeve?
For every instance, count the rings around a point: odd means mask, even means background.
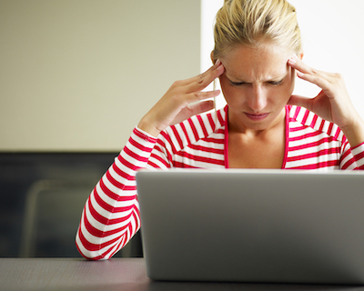
[[[199,101],[215,97],[219,91],[201,90],[223,72],[223,65],[217,62],[204,74],[177,81],[142,118],[86,201],[76,233],[76,246],[82,256],[110,258],[136,234],[140,228],[136,171],[147,166],[157,135],[168,125],[213,108],[211,101]]]

